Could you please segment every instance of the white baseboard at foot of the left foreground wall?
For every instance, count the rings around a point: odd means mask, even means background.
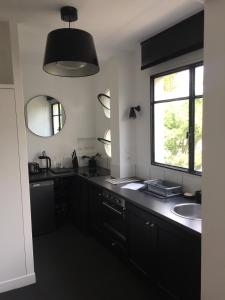
[[[35,273],[0,282],[0,293],[21,288],[36,282]]]

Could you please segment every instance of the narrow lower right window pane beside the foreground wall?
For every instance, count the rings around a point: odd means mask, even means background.
[[[195,100],[195,171],[202,171],[202,98]]]

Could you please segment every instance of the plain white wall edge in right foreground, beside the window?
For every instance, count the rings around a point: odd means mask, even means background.
[[[225,299],[225,1],[205,1],[202,300]]]

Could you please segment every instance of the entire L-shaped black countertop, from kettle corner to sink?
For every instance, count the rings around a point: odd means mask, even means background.
[[[68,169],[67,173],[61,174],[54,174],[51,171],[48,171],[46,173],[30,175],[30,182],[32,183],[44,180],[54,180],[59,177],[65,178],[71,176],[81,176],[89,182],[116,193],[117,195],[125,198],[130,203],[152,214],[155,214],[156,216],[161,217],[166,221],[172,222],[183,229],[191,231],[194,234],[201,235],[202,222],[200,220],[182,218],[171,212],[171,208],[174,205],[193,201],[185,199],[181,196],[171,197],[167,199],[159,199],[157,197],[145,194],[144,192],[138,190],[134,191],[122,189],[121,186],[125,184],[113,185],[105,181],[109,174],[110,171],[104,168],[97,168],[96,173],[93,173],[89,171],[88,167],[81,167],[77,170]]]

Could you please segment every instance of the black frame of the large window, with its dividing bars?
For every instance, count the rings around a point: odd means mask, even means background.
[[[188,64],[182,67],[167,70],[165,72],[160,72],[150,76],[150,141],[151,141],[151,165],[163,167],[175,171],[181,171],[184,173],[201,176],[202,172],[196,171],[194,169],[195,163],[195,99],[202,98],[204,101],[204,95],[195,95],[195,68],[199,66],[204,66],[203,61]],[[189,81],[189,96],[179,97],[172,99],[165,99],[160,101],[154,101],[154,80],[158,77],[173,74],[176,72],[189,70],[190,71],[190,81]],[[189,100],[189,157],[188,157],[188,168],[182,168],[177,166],[172,166],[168,164],[163,164],[155,161],[155,104],[165,103],[179,100]]]

